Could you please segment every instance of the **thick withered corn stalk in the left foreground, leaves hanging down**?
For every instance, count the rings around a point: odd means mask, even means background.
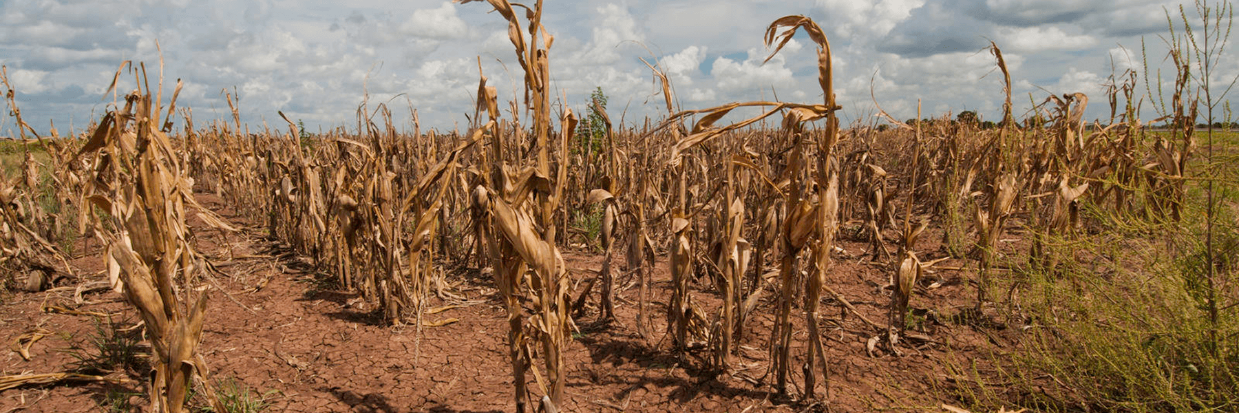
[[[103,117],[79,151],[94,156],[88,200],[110,215],[110,228],[115,228],[98,234],[108,242],[108,275],[146,324],[155,352],[147,383],[155,409],[181,412],[197,378],[212,406],[222,411],[198,353],[207,306],[207,294],[199,286],[204,265],[190,243],[192,231],[185,220],[196,210],[207,224],[234,229],[195,201],[193,180],[167,135],[171,123],[160,122],[172,113],[181,83],[165,114],[161,93],[152,98],[150,89],[142,88],[147,84],[145,69],[133,72],[139,88],[125,97],[123,108]]]

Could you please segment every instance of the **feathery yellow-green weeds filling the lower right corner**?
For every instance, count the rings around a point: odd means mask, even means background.
[[[1007,303],[1018,324],[1010,326],[1023,331],[1018,349],[995,355],[984,372],[952,366],[985,383],[960,386],[957,397],[975,411],[1239,409],[1239,221],[1235,210],[1217,208],[1207,244],[1206,191],[1201,182],[1187,189],[1181,222],[1085,205],[1093,231],[1043,238],[1054,265],[1009,257],[1002,282],[1020,286]],[[1218,205],[1234,193],[1214,182]]]

